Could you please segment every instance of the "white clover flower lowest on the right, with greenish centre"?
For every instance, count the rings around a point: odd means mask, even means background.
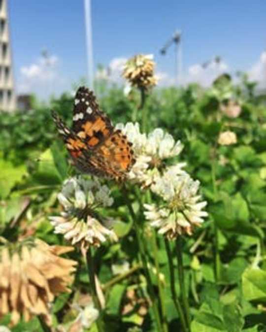
[[[201,197],[197,195],[199,181],[194,181],[181,168],[169,167],[151,189],[165,203],[161,207],[144,204],[144,215],[152,227],[169,239],[183,233],[192,234],[193,227],[199,226],[204,221],[202,218],[208,215],[201,210],[207,202],[199,202]]]

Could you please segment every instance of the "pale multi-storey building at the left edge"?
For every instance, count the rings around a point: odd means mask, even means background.
[[[7,0],[0,0],[0,110],[16,109]]]

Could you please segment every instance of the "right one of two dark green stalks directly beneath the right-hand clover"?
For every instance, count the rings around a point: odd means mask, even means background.
[[[185,287],[185,278],[184,278],[184,266],[182,258],[182,237],[177,236],[176,238],[176,256],[177,256],[177,266],[178,266],[178,276],[179,276],[179,285],[180,285],[180,295],[185,309],[185,316],[188,326],[188,331],[190,331],[190,310],[189,303],[186,294]]]

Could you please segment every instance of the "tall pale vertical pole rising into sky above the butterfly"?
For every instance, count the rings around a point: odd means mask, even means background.
[[[91,89],[93,89],[94,73],[93,73],[91,0],[84,0],[84,6],[85,6],[86,41],[87,41],[88,85]]]

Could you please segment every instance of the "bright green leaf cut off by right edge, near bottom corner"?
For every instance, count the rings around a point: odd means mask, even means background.
[[[247,268],[242,275],[244,299],[266,301],[266,271],[260,268]]]

